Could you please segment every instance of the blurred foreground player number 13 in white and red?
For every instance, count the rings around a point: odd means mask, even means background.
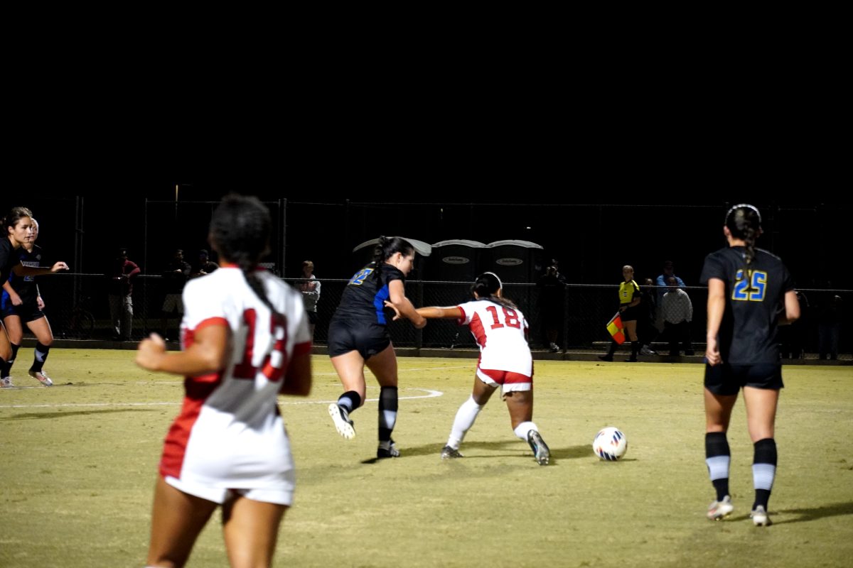
[[[186,376],[160,460],[149,566],[183,565],[219,505],[232,564],[271,563],[294,482],[276,398],[310,391],[310,335],[299,292],[258,269],[269,236],[264,204],[224,198],[210,240],[225,262],[183,290],[183,351],[166,353],[157,335],[139,344],[137,364]]]

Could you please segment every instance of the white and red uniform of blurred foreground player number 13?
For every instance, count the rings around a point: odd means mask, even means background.
[[[272,321],[239,268],[220,268],[184,288],[183,347],[207,325],[228,325],[234,347],[223,370],[186,377],[160,474],[177,489],[214,502],[233,490],[289,505],[293,457],[276,397],[293,355],[310,351],[310,334],[299,292],[265,271],[258,278],[283,320]]]

